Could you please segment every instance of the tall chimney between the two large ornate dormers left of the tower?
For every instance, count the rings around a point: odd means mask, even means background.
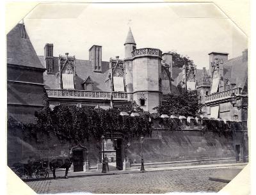
[[[102,46],[92,45],[89,49],[89,60],[92,61],[93,71],[101,72]]]

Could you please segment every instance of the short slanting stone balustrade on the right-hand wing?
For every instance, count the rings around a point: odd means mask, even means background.
[[[206,95],[205,96],[205,103],[230,98],[232,93],[235,93],[236,95],[242,95],[241,90],[242,90],[242,88],[234,88],[232,90],[221,91],[221,92],[218,92],[218,93],[212,93],[211,95]]]

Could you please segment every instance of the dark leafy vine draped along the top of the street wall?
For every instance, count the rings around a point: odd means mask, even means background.
[[[138,113],[139,116],[121,116],[121,112]],[[75,105],[57,105],[53,110],[49,107],[47,94],[44,97],[44,107],[35,113],[35,123],[20,123],[12,117],[8,118],[8,129],[22,129],[29,132],[29,137],[36,137],[38,132],[51,134],[60,140],[66,139],[79,143],[91,136],[97,141],[102,135],[121,133],[125,141],[140,136],[151,135],[152,120],[159,120],[163,129],[170,131],[182,130],[177,118],[160,118],[160,113],[150,114],[144,112],[135,102],[128,103],[118,109],[92,109],[90,107],[77,107]],[[202,132],[212,131],[219,134],[232,135],[235,130],[241,130],[241,123],[217,120],[203,120]]]

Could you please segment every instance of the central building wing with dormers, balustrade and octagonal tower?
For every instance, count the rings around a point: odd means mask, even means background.
[[[45,55],[38,56],[46,68],[44,84],[51,107],[59,104],[118,107],[136,101],[145,111],[154,112],[164,93],[170,93],[172,54],[159,49],[136,49],[129,29],[124,43],[125,58],[102,61],[102,46],[89,49],[89,60],[75,56],[52,56],[47,43]],[[162,63],[164,59],[164,64]]]

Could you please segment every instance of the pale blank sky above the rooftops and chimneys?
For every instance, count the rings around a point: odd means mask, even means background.
[[[138,49],[177,51],[198,68],[209,68],[209,52],[234,58],[247,48],[244,33],[211,3],[48,3],[36,6],[24,23],[38,55],[53,43],[54,56],[88,59],[88,49],[102,45],[103,61],[124,58],[129,26]]]

